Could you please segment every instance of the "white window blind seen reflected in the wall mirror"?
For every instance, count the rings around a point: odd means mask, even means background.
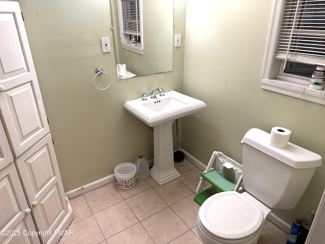
[[[121,0],[123,33],[140,36],[140,0]]]

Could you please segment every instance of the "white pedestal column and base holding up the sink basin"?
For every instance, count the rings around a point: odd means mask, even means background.
[[[153,167],[149,174],[159,185],[181,176],[174,167],[173,122],[153,127]]]

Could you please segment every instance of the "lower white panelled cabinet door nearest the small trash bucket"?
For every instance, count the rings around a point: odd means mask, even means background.
[[[51,134],[15,159],[37,229],[54,232],[69,209]],[[43,243],[50,235],[40,236]]]

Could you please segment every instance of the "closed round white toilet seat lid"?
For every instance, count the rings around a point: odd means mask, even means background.
[[[264,213],[238,192],[221,192],[202,204],[199,217],[211,234],[223,239],[239,239],[259,230]]]

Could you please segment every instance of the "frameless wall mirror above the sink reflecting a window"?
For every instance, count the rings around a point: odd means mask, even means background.
[[[173,0],[111,0],[110,4],[118,79],[172,71]]]

